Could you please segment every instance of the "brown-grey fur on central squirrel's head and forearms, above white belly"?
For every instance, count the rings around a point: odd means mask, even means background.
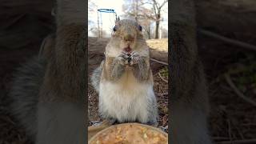
[[[142,38],[142,32],[138,30],[138,23],[131,20],[122,20],[116,22],[110,42],[106,46],[106,60],[103,66],[102,79],[116,81],[121,78],[122,73],[126,70],[131,70],[135,78],[140,82],[149,81],[150,78],[150,55],[146,41]],[[128,39],[127,39],[128,38]],[[118,64],[118,55],[111,53],[120,53],[130,46],[130,49],[137,51],[139,63],[134,66],[122,66]],[[109,55],[110,53],[110,55]],[[118,70],[118,71],[115,71]]]

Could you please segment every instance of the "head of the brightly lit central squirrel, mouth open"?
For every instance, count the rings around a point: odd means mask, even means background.
[[[118,38],[119,48],[127,53],[134,50],[142,37],[142,26],[130,19],[118,20],[113,28],[112,38]]]

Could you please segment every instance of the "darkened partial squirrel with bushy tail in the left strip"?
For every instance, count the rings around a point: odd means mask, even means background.
[[[56,32],[14,74],[10,114],[36,144],[85,143],[86,1],[56,3]]]

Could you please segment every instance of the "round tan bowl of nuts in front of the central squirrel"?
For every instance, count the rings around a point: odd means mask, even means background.
[[[110,126],[90,138],[89,144],[166,144],[168,134],[153,126],[123,123]]]

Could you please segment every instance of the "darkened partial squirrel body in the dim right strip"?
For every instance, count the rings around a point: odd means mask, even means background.
[[[208,91],[198,57],[193,0],[172,1],[169,26],[170,143],[211,144]]]

